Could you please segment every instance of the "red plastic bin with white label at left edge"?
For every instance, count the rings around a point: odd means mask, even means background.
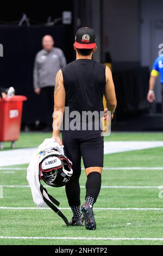
[[[0,99],[0,148],[3,148],[3,142],[15,141],[20,136],[23,101],[26,96],[13,96]]]

